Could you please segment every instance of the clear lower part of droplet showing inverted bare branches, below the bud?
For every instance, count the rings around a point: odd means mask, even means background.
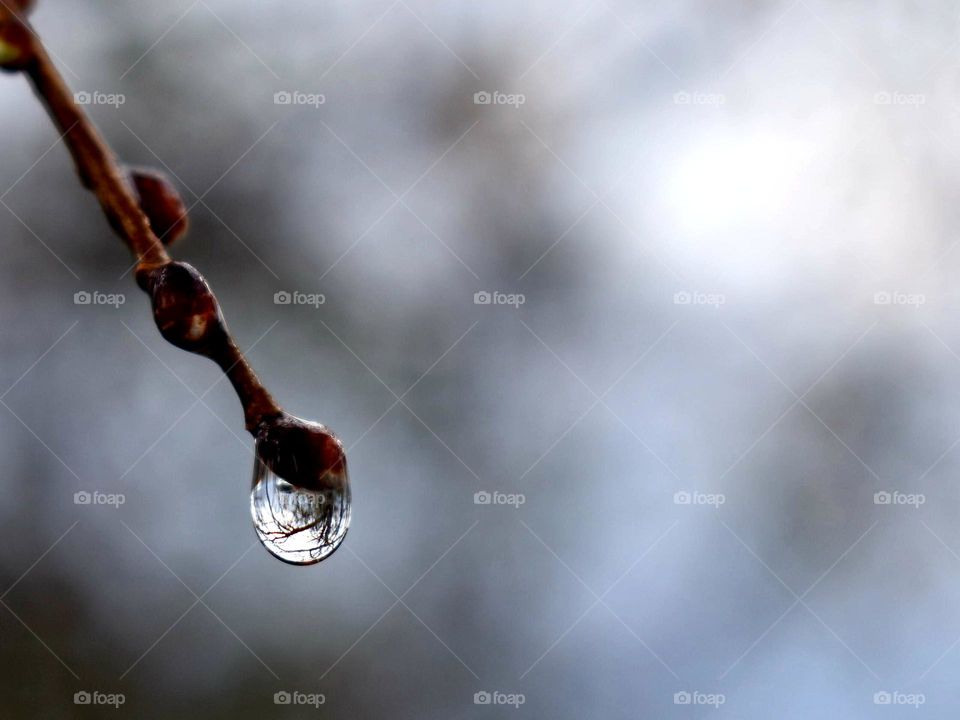
[[[293,565],[312,565],[329,557],[350,527],[350,484],[307,490],[292,485],[257,457],[250,513],[263,546]]]

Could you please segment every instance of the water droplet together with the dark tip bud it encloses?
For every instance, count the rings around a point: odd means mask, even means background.
[[[263,546],[294,565],[329,557],[350,527],[346,457],[323,425],[289,415],[257,435],[250,513]]]

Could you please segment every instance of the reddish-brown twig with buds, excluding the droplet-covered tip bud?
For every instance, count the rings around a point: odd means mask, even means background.
[[[0,67],[30,78],[63,133],[81,181],[96,195],[111,227],[136,258],[137,283],[150,295],[161,334],[177,347],[220,365],[243,404],[247,430],[256,437],[258,429],[282,416],[283,410],[230,336],[206,280],[187,263],[171,260],[154,232],[156,226],[171,240],[182,234],[186,216],[179,195],[163,176],[137,171],[131,178],[120,165],[23,17],[27,5],[0,0]]]

